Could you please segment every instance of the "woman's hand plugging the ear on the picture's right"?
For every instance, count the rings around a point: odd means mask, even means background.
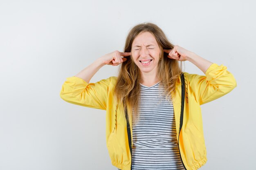
[[[168,53],[167,57],[171,59],[175,59],[178,61],[186,61],[188,60],[189,55],[191,55],[191,51],[188,51],[181,46],[175,45],[173,49],[164,49],[165,53]]]

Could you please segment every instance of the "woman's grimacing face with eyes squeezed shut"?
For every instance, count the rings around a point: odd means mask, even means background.
[[[137,35],[132,42],[131,55],[141,73],[157,73],[160,48],[150,32]]]

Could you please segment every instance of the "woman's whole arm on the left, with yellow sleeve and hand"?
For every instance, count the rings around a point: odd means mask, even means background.
[[[114,51],[100,57],[75,76],[67,77],[61,88],[61,98],[72,104],[106,110],[112,77],[101,79],[96,83],[89,84],[89,81],[102,66],[106,64],[117,66],[126,61],[127,59],[121,58],[121,55],[128,56],[129,53]]]

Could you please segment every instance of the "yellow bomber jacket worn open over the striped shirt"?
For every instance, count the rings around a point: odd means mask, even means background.
[[[200,105],[232,91],[236,87],[236,80],[226,66],[216,63],[209,66],[205,75],[184,72],[184,79],[186,93],[181,130],[180,78],[176,97],[172,97],[177,139],[184,167],[186,170],[196,170],[207,162]],[[106,110],[106,144],[112,165],[121,170],[131,170],[132,117],[126,121],[124,107],[117,104],[114,97],[116,80],[117,77],[112,76],[88,84],[79,77],[68,77],[60,96],[72,104]]]

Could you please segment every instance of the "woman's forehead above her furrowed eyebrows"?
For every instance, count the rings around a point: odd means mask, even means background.
[[[142,32],[137,35],[137,37],[132,42],[133,45],[139,44],[157,44],[155,37],[150,32]]]

